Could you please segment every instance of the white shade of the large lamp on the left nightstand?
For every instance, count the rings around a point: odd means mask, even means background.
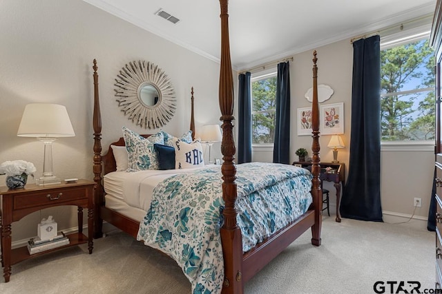
[[[50,103],[32,103],[25,107],[19,137],[73,137],[74,129],[70,123],[66,107]]]

